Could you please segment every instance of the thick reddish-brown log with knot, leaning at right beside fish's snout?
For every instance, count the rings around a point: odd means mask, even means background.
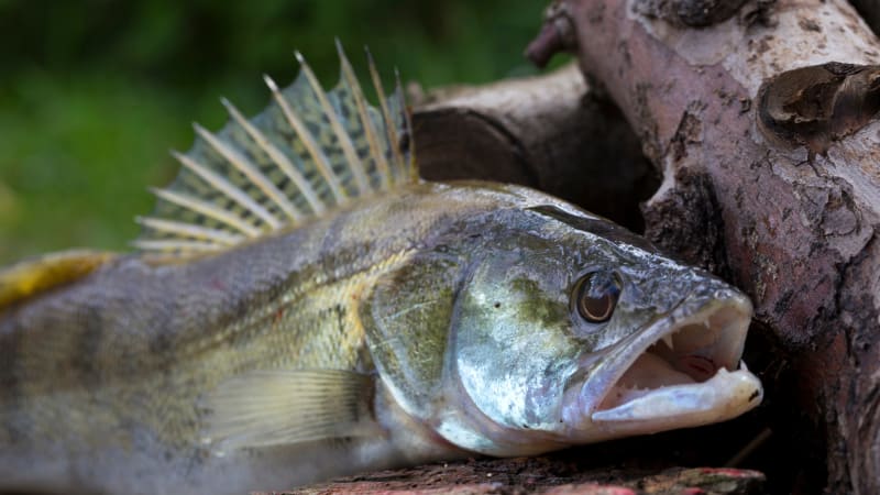
[[[751,296],[792,490],[880,493],[880,43],[843,1],[718,3],[560,0],[530,54],[568,23],[662,170],[646,234]]]

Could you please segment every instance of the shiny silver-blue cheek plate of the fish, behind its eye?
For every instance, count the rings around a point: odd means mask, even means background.
[[[568,300],[515,270],[484,268],[459,296],[450,341],[457,376],[496,428],[553,430],[581,352]]]

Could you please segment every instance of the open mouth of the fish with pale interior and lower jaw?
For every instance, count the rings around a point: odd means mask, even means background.
[[[750,304],[735,297],[707,306],[628,343],[625,353],[637,356],[593,403],[594,426],[647,433],[723,421],[760,404],[761,383],[740,361]]]

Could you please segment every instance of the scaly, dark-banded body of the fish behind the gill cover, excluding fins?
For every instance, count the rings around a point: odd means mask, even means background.
[[[202,442],[198,399],[253,371],[374,375],[362,298],[432,235],[515,198],[477,186],[413,185],[217,256],[170,265],[121,256],[6,312],[0,465],[9,472],[2,479],[56,488],[81,480],[94,490],[90,483],[110,477],[114,484],[98,487],[204,493],[235,486],[234,473],[251,471],[249,464],[263,468],[265,485],[257,486],[278,490],[293,481],[274,485],[273,470],[290,480],[305,464],[294,480],[310,480],[326,471],[321,463],[331,462],[333,473],[356,469],[358,459],[346,452],[358,450],[358,439],[287,449],[293,454],[268,465],[262,452],[212,454]],[[380,447],[366,443],[362,448],[371,453]],[[332,459],[305,462],[316,450]],[[297,459],[302,452],[306,459]],[[375,465],[411,454],[418,455],[389,449]],[[25,469],[35,460],[38,470]],[[46,462],[55,465],[50,470]],[[70,481],[58,484],[53,471]],[[254,486],[230,493],[249,488]]]

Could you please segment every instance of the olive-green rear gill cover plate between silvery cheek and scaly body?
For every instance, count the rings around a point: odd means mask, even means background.
[[[442,394],[449,324],[460,264],[417,255],[378,279],[361,306],[366,344],[381,380],[410,416],[433,416]]]

